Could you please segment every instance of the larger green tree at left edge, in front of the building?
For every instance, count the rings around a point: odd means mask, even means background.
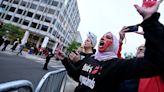
[[[5,35],[9,39],[13,40],[16,38],[22,38],[24,35],[24,30],[18,26],[6,23],[0,28],[0,35]]]

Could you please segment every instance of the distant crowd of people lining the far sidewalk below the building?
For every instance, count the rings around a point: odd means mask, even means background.
[[[12,47],[9,47],[9,45],[12,45]],[[11,41],[11,39],[6,36],[0,36],[0,48],[1,51],[6,51],[6,48],[10,48],[11,52],[17,52],[17,55],[22,55],[22,51],[26,49],[28,49],[29,54],[38,56],[47,56],[50,51],[50,49],[41,48],[41,46],[36,47],[28,43],[22,44],[20,38]]]

